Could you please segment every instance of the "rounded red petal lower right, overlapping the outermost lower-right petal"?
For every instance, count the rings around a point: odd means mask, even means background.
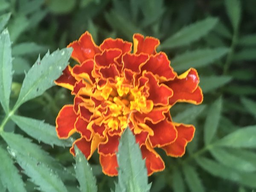
[[[169,145],[177,138],[177,130],[175,126],[167,119],[160,121],[157,124],[147,122],[147,125],[154,131],[154,136],[149,136],[149,142],[153,148]]]

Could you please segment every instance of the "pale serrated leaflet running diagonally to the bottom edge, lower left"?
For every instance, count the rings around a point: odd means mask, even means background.
[[[12,148],[9,149],[9,153],[15,157],[17,163],[23,168],[23,172],[30,177],[32,182],[40,187],[40,191],[67,192],[61,178],[44,163]]]

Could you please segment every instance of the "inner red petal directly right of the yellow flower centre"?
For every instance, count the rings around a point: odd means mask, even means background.
[[[144,74],[148,78],[148,83],[146,84],[149,87],[149,96],[148,99],[151,99],[154,102],[154,105],[168,105],[169,98],[172,97],[173,91],[165,84],[160,84],[157,79],[153,76],[151,72]]]

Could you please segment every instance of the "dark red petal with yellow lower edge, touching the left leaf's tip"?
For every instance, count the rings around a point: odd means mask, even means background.
[[[55,84],[73,90],[74,85],[76,84],[76,79],[71,75],[72,68],[68,65],[62,72],[62,75],[55,80]]]

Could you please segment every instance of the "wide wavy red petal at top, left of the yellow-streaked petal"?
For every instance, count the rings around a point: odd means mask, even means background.
[[[121,49],[122,53],[131,52],[132,43],[128,41],[123,41],[122,39],[112,39],[108,38],[103,41],[99,48],[103,51],[104,49]]]

